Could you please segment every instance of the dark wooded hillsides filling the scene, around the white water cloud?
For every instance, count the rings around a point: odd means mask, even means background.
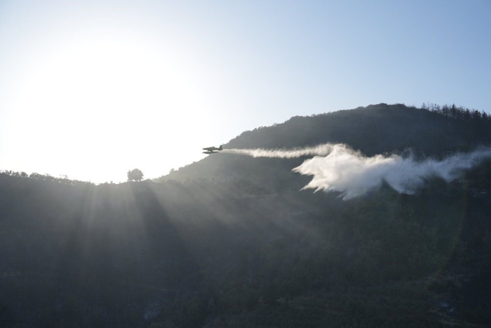
[[[489,145],[455,106],[294,117],[224,148],[419,157]],[[489,327],[491,162],[414,195],[299,191],[303,159],[213,155],[119,185],[0,174],[1,327]]]

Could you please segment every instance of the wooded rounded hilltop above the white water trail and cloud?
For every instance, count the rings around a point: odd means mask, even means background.
[[[451,113],[455,112],[455,115]],[[457,115],[459,113],[459,115]],[[491,117],[479,111],[444,106],[417,109],[405,105],[371,105],[313,116],[295,116],[282,124],[247,131],[230,148],[303,147],[324,142],[347,143],[366,155],[417,148],[436,154],[487,142]]]

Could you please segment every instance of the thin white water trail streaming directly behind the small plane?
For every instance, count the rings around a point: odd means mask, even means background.
[[[315,147],[294,148],[294,149],[223,149],[221,153],[248,155],[252,157],[277,157],[277,158],[296,158],[302,156],[326,156],[336,146],[326,143]]]

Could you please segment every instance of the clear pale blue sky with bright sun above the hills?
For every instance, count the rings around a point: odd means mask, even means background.
[[[0,169],[157,178],[378,103],[491,112],[491,1],[0,0]]]

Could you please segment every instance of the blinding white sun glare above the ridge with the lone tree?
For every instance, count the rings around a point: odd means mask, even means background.
[[[40,173],[120,181],[125,169],[145,172],[145,159],[162,162],[159,172],[146,170],[156,177],[169,169],[162,144],[194,138],[182,131],[197,128],[204,96],[183,57],[139,40],[95,37],[36,58],[17,81],[11,119],[23,122],[13,133],[34,146]],[[18,167],[28,171],[27,162],[19,159]]]

